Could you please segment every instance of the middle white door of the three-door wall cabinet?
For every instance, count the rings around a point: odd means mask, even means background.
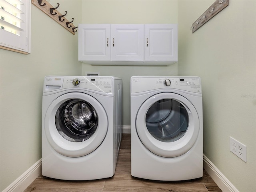
[[[111,60],[144,61],[144,24],[111,24]]]

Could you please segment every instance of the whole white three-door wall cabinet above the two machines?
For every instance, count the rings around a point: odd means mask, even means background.
[[[78,24],[78,60],[100,65],[178,61],[177,24]]]

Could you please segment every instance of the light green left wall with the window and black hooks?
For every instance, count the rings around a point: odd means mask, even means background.
[[[62,1],[60,7],[68,10],[67,18],[74,17],[77,26],[81,1]],[[78,35],[34,5],[31,8],[31,54],[0,49],[0,191],[41,158],[44,76],[81,74]]]

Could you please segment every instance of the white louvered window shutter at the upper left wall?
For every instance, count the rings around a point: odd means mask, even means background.
[[[30,53],[30,0],[0,0],[0,46]]]

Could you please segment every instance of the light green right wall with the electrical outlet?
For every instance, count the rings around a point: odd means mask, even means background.
[[[178,74],[202,78],[204,154],[240,192],[256,186],[256,1],[229,5],[192,34],[215,0],[179,0]],[[247,163],[229,137],[247,146]]]

